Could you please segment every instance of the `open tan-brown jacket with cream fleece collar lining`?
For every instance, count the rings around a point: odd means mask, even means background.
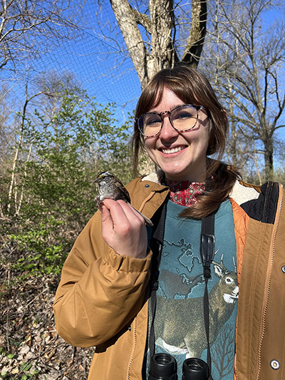
[[[132,204],[150,218],[168,193],[157,182],[152,173],[127,185]],[[247,215],[258,217],[261,207],[247,205],[247,200],[257,200],[259,192],[260,188],[237,183],[231,198],[240,282],[238,380],[285,379],[283,189],[270,222]],[[53,305],[56,329],[74,346],[95,347],[88,379],[141,379],[151,257],[152,252],[145,259],[123,257],[110,249],[102,239],[98,212],[68,255]],[[280,368],[273,369],[277,362]]]

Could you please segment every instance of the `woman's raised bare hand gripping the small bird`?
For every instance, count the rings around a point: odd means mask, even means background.
[[[147,229],[143,217],[123,200],[103,201],[102,235],[109,247],[123,256],[140,259],[147,253]]]

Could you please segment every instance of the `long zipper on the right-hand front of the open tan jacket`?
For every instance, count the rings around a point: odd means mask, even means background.
[[[279,189],[281,190],[281,196],[279,200],[279,208],[277,209],[276,212],[276,222],[274,223],[274,231],[272,233],[273,239],[272,239],[272,255],[271,255],[271,260],[270,260],[270,266],[269,266],[269,272],[267,275],[267,281],[266,284],[268,284],[267,287],[267,292],[266,292],[266,299],[264,302],[264,307],[263,307],[263,313],[262,313],[262,328],[261,328],[261,334],[259,338],[259,349],[258,349],[258,356],[257,356],[257,380],[259,379],[260,372],[261,372],[261,345],[264,339],[264,334],[265,334],[265,318],[266,318],[266,312],[267,312],[267,307],[269,303],[269,292],[270,292],[270,284],[271,284],[271,273],[272,273],[272,267],[273,267],[273,262],[274,262],[274,255],[275,255],[275,245],[276,245],[276,235],[277,235],[277,230],[279,227],[279,222],[280,222],[280,213],[281,213],[281,208],[282,208],[282,203],[283,203],[283,186],[279,185]]]

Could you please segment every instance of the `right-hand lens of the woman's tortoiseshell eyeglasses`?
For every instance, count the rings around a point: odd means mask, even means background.
[[[195,127],[197,109],[192,106],[179,107],[172,111],[170,118],[177,130],[188,130]]]

